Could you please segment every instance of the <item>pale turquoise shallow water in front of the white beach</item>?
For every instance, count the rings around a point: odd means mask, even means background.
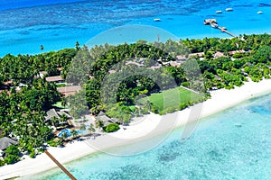
[[[270,179],[271,94],[202,120],[192,137],[182,143],[181,130],[136,156],[96,153],[65,166],[84,180]],[[69,179],[59,169],[27,177],[31,178]]]

